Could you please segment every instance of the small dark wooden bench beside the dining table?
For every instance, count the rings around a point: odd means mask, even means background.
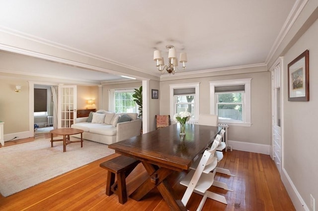
[[[134,158],[119,156],[99,164],[100,167],[108,171],[106,181],[107,196],[116,193],[120,204],[127,202],[126,177],[134,170],[139,162],[140,160]],[[115,174],[117,176],[116,182]]]

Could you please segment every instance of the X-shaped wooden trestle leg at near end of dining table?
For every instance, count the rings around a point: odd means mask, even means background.
[[[141,186],[139,186],[129,197],[136,201],[139,201],[153,188],[157,187],[164,201],[168,204],[171,210],[186,211],[186,208],[181,200],[176,200],[174,191],[166,182],[166,177],[169,176],[173,172],[173,170],[163,167],[155,168],[154,165],[144,161],[142,163],[149,174],[149,178]]]

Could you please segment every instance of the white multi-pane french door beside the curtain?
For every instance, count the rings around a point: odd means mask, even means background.
[[[58,128],[71,127],[77,108],[77,86],[59,85]]]

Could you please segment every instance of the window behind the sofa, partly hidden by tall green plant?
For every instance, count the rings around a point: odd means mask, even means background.
[[[115,90],[115,112],[137,113],[138,105],[134,102],[134,90]]]

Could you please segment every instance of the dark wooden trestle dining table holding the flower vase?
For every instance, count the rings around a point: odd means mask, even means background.
[[[167,183],[174,171],[188,170],[193,159],[214,140],[221,127],[186,124],[186,135],[179,135],[179,124],[151,131],[108,146],[116,153],[141,160],[149,174],[129,197],[140,201],[157,187],[171,210],[186,210]]]

